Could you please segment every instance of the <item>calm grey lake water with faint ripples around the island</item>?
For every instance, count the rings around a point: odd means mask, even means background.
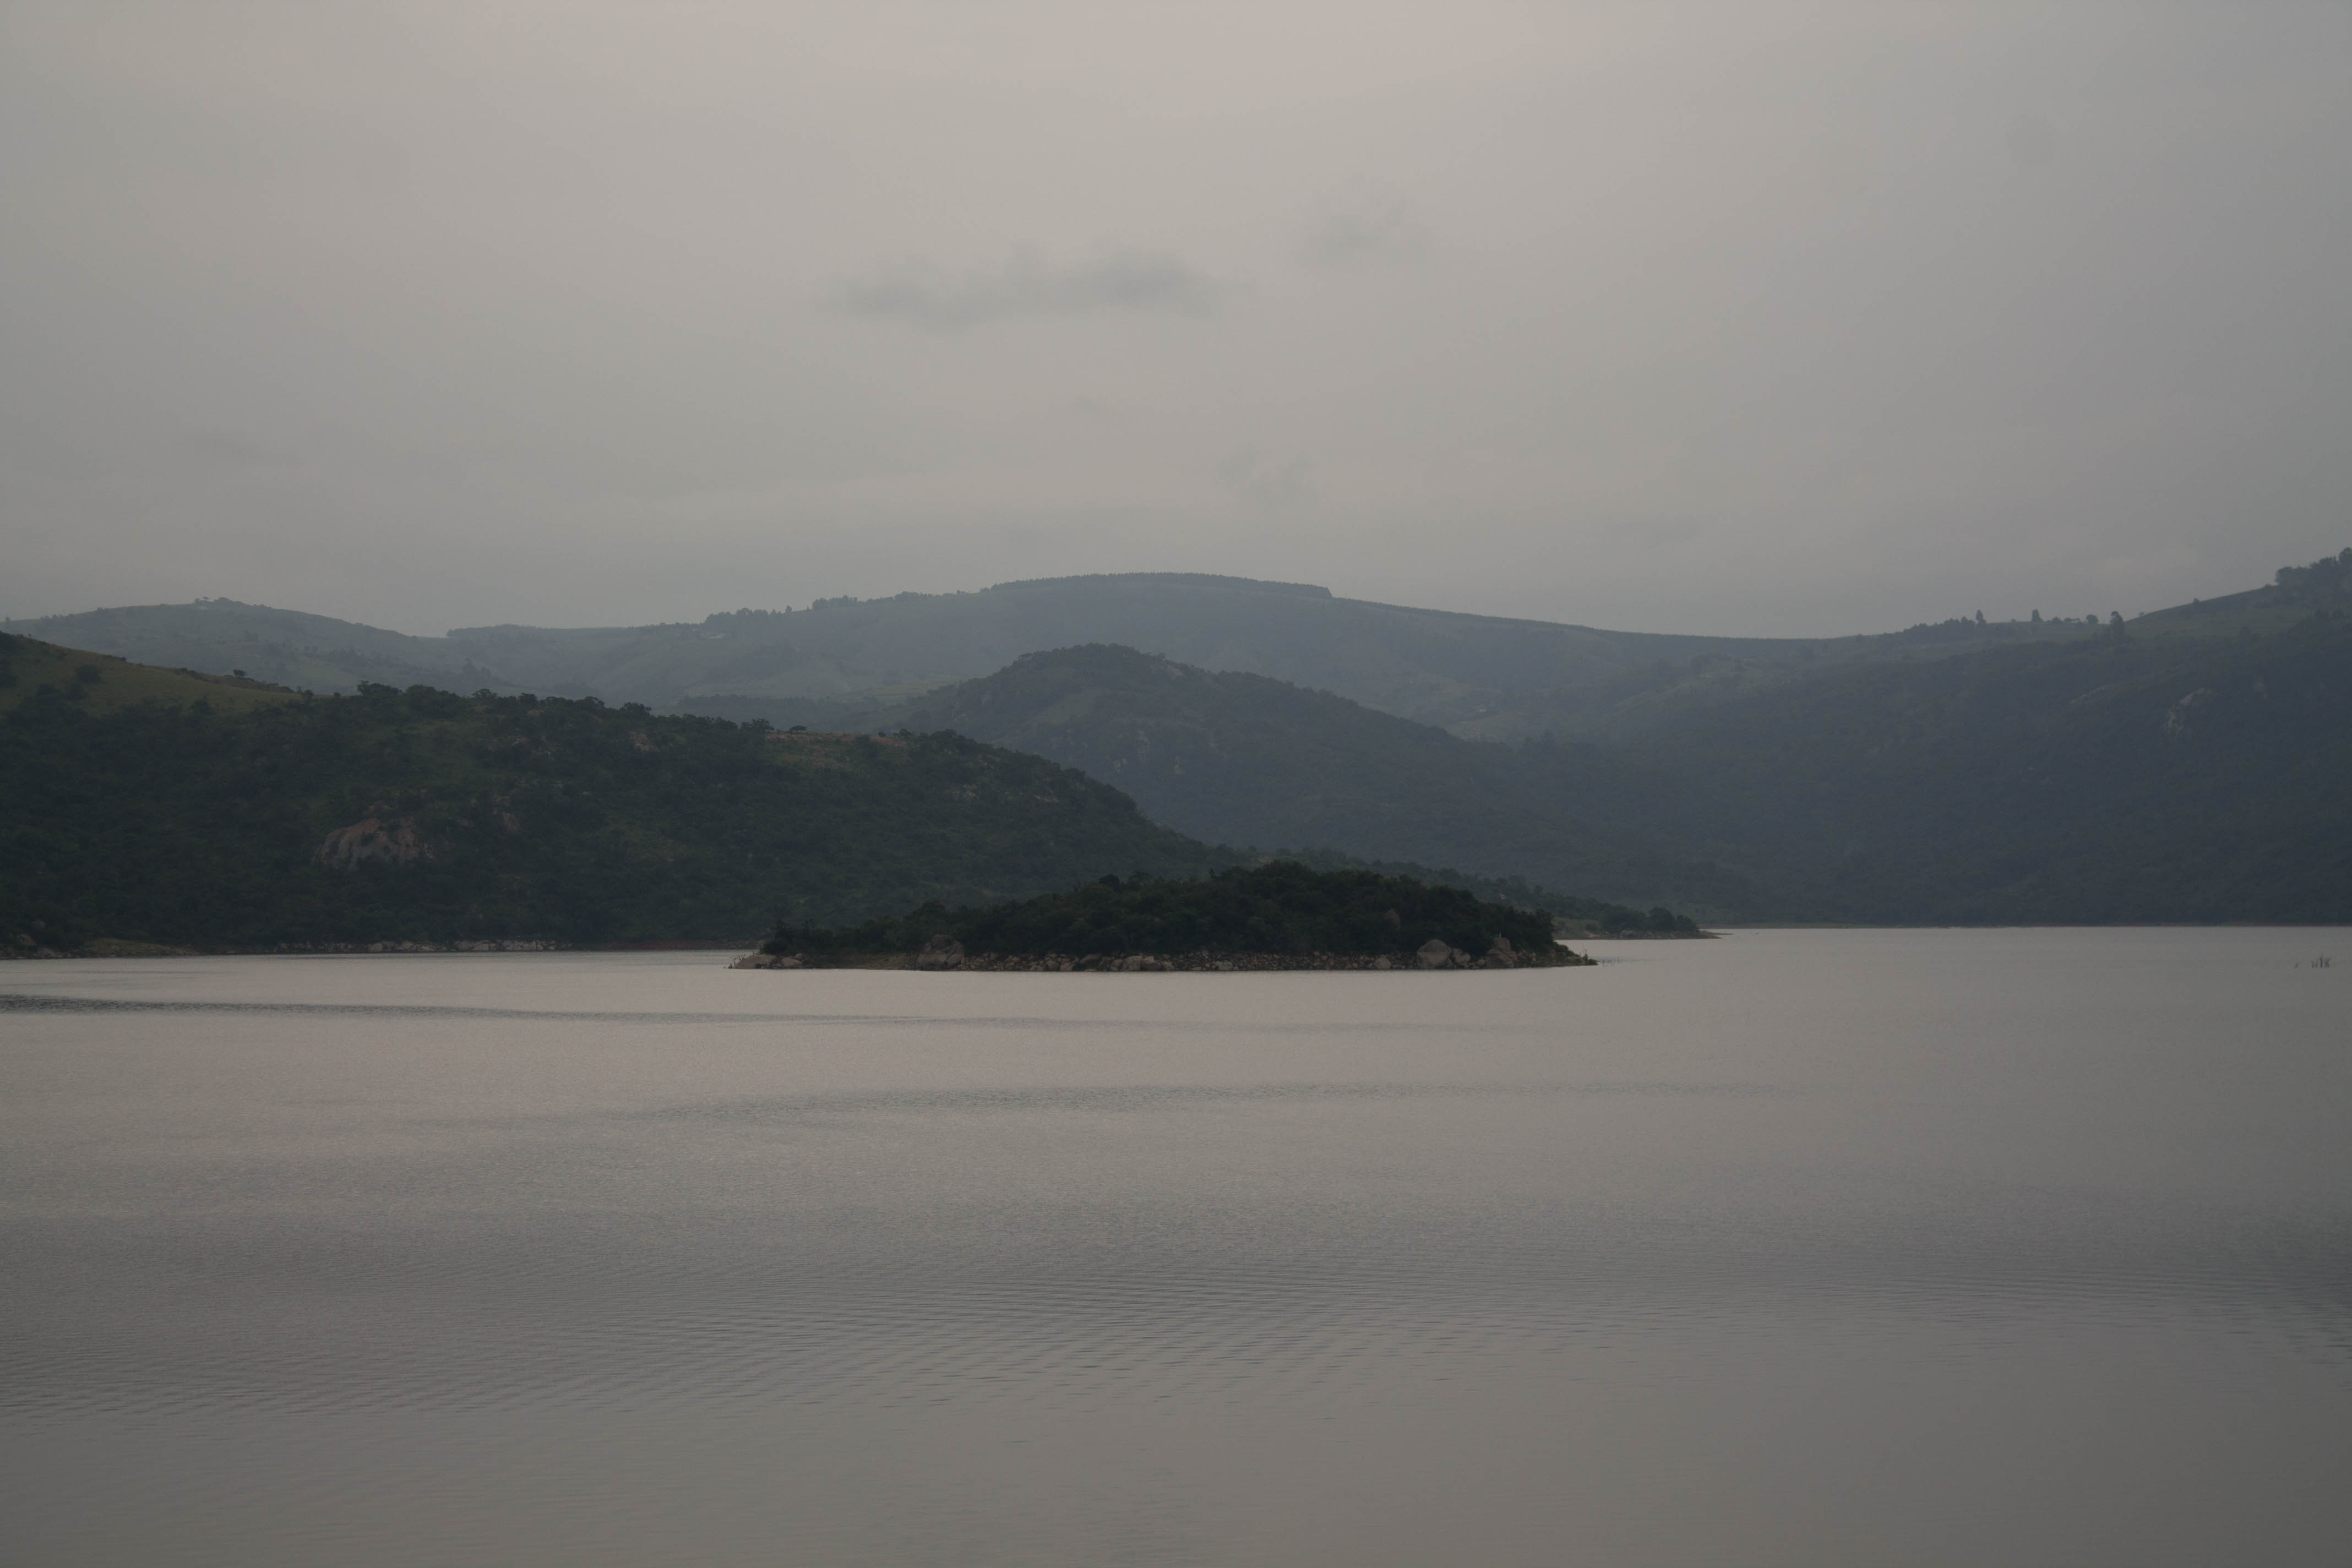
[[[2345,1561],[2345,931],[1599,954],[0,966],[0,1556]]]

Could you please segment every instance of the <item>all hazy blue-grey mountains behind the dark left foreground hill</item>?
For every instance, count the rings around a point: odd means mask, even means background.
[[[955,731],[1115,785],[1202,844],[1715,922],[2300,922],[2352,917],[2347,585],[2352,550],[2131,623],[1809,642],[1195,576],[449,637],[223,599],[12,625],[313,689]]]

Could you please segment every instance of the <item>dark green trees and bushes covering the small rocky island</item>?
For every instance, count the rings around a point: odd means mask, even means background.
[[[1362,954],[1406,959],[1428,943],[1534,961],[1571,961],[1552,917],[1463,889],[1298,860],[1235,865],[1207,877],[1101,877],[1061,893],[967,905],[927,903],[858,926],[779,924],[764,952],[802,959],[915,954],[957,943],[969,954]]]

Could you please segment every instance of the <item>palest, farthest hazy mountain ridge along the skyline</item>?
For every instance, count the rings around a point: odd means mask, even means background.
[[[360,682],[597,696],[607,703],[844,724],[1023,654],[1115,642],[1204,670],[1268,675],[1482,738],[1639,724],[1665,691],[1825,663],[1938,658],[2056,621],[1950,621],[1884,637],[1609,632],[1341,599],[1303,583],[1129,574],[978,592],[818,599],[630,628],[461,628],[409,637],[235,599],[9,621],[7,630],[169,668],[245,670],[310,691]]]

